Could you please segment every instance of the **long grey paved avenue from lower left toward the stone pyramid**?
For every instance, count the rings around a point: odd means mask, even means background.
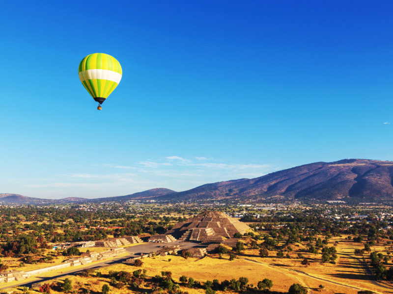
[[[0,290],[4,290],[4,289],[8,289],[8,288],[13,288],[13,287],[19,287],[19,286],[26,286],[26,287],[31,287],[32,284],[38,283],[38,282],[45,282],[48,280],[53,280],[53,279],[57,279],[57,278],[61,278],[63,276],[66,275],[70,275],[70,274],[76,274],[80,271],[86,270],[86,269],[101,269],[101,268],[105,268],[105,267],[109,267],[112,266],[114,264],[118,264],[118,263],[122,263],[123,261],[126,261],[127,259],[129,259],[130,257],[134,257],[134,256],[140,256],[141,254],[148,254],[150,252],[157,252],[159,249],[161,249],[164,246],[168,246],[168,245],[180,245],[181,249],[189,249],[192,247],[198,247],[200,246],[197,243],[192,243],[192,242],[172,242],[172,243],[146,243],[146,244],[140,244],[140,245],[135,245],[135,246],[130,246],[130,247],[125,247],[125,249],[128,251],[129,254],[122,256],[122,257],[115,257],[103,262],[99,262],[99,263],[93,263],[93,264],[88,264],[85,267],[82,268],[78,268],[78,269],[72,269],[72,267],[70,268],[71,270],[68,271],[64,271],[61,272],[59,274],[53,275],[53,276],[49,276],[49,277],[36,277],[36,279],[34,280],[30,280],[29,282],[23,282],[21,281],[18,284],[13,284],[10,286],[5,286],[5,287],[0,287]],[[133,253],[133,254],[131,254]],[[50,272],[49,272],[50,273]]]

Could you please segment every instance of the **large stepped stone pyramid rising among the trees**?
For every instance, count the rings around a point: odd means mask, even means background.
[[[177,223],[167,234],[181,241],[220,242],[233,238],[235,233],[244,234],[251,228],[220,211],[205,211]],[[224,238],[223,238],[224,237]]]

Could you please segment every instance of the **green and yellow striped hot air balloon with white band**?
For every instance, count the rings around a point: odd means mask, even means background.
[[[84,88],[98,102],[97,109],[101,110],[101,104],[119,84],[122,70],[111,55],[93,53],[82,59],[78,73]]]

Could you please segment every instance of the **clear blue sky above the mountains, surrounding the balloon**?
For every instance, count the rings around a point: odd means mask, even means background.
[[[393,160],[392,12],[391,1],[4,2],[0,193],[182,191]],[[123,69],[100,112],[78,78],[94,52]]]

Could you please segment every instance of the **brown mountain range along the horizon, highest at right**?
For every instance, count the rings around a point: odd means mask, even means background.
[[[72,203],[81,201],[120,201],[130,199],[206,200],[206,199],[354,199],[364,202],[393,200],[393,161],[344,159],[315,162],[253,179],[237,179],[205,184],[175,192],[156,188],[125,196],[85,199],[78,197],[49,200],[16,194],[0,194],[0,203]]]

